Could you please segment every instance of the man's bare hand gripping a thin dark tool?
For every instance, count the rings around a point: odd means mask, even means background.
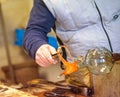
[[[57,53],[56,49],[49,44],[44,44],[36,51],[35,61],[42,67],[56,64],[57,60],[52,57],[53,54]]]

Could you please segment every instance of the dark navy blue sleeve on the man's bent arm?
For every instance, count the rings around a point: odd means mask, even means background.
[[[42,0],[34,0],[28,25],[25,29],[23,48],[35,59],[36,50],[47,43],[47,33],[54,26],[55,18]]]

